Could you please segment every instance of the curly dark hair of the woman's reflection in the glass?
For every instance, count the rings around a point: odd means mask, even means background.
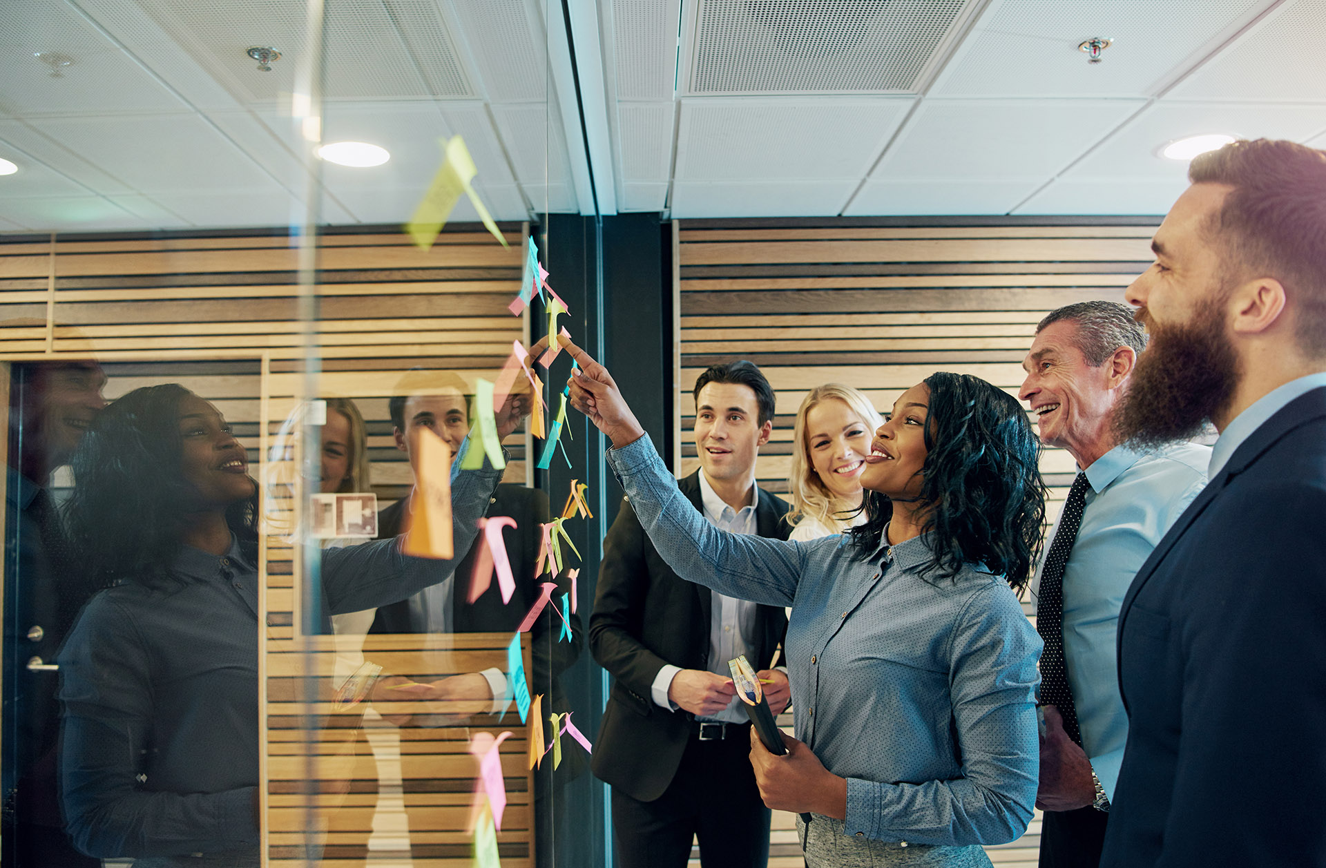
[[[73,456],[65,506],[70,547],[98,587],[179,583],[171,566],[196,496],[180,468],[178,383],[137,388],[97,415]],[[256,562],[257,492],[225,510],[244,557]]]

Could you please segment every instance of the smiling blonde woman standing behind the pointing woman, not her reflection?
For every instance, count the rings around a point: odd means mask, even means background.
[[[810,390],[797,411],[792,453],[790,539],[806,542],[841,534],[865,521],[861,472],[870,439],[883,424],[870,400],[850,386]]]

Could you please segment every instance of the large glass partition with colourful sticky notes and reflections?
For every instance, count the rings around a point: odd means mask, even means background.
[[[0,24],[4,864],[602,864],[561,4]]]

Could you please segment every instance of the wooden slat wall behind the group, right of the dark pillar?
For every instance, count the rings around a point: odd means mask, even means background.
[[[680,264],[682,473],[699,466],[688,432],[690,387],[709,364],[751,359],[778,399],[760,485],[785,493],[792,427],[805,392],[838,382],[880,411],[936,370],[975,374],[1012,395],[1036,323],[1075,301],[1123,301],[1151,262],[1159,221],[1018,219],[683,220]],[[1046,449],[1053,519],[1075,465]],[[770,865],[800,865],[790,815],[776,818]],[[1013,844],[989,848],[1000,868],[1037,861],[1040,815]]]

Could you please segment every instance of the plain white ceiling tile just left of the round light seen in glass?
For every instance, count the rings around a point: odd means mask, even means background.
[[[138,192],[225,191],[272,180],[196,114],[38,118],[33,125]]]

